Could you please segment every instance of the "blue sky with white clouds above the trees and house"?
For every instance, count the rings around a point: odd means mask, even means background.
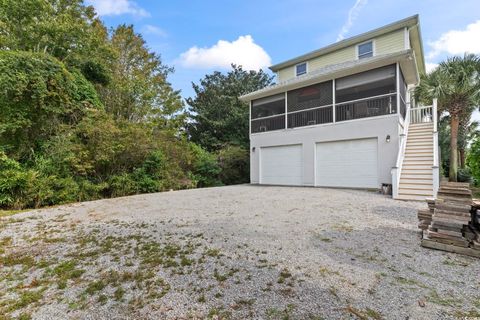
[[[85,0],[109,27],[133,24],[150,50],[175,68],[183,98],[231,63],[268,66],[420,15],[427,69],[447,56],[480,54],[480,0]],[[475,118],[480,120],[480,114]]]

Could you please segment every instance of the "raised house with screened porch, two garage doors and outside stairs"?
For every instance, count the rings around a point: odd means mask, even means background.
[[[412,90],[425,72],[418,15],[281,62],[250,105],[253,184],[438,189],[436,106]]]

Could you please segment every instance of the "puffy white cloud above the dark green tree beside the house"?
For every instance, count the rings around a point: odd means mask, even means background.
[[[235,63],[247,70],[258,70],[271,64],[270,56],[250,35],[240,36],[232,42],[219,40],[210,48],[194,46],[182,53],[178,61],[187,68],[228,68]]]

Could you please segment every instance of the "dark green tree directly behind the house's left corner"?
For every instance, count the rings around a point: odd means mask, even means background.
[[[273,78],[262,70],[245,71],[232,65],[227,74],[215,71],[192,83],[195,98],[188,98],[191,122],[187,132],[191,141],[209,151],[216,151],[226,144],[248,148],[248,106],[238,97],[262,89]]]

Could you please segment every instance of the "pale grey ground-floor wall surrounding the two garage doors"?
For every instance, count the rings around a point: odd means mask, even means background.
[[[391,169],[395,166],[399,149],[398,115],[364,118],[311,127],[286,129],[253,134],[250,136],[250,182],[259,183],[259,167],[262,147],[290,144],[303,145],[303,184],[314,186],[315,144],[317,142],[378,139],[378,187],[392,183]],[[386,136],[390,135],[390,142]],[[255,151],[253,151],[255,148]]]

